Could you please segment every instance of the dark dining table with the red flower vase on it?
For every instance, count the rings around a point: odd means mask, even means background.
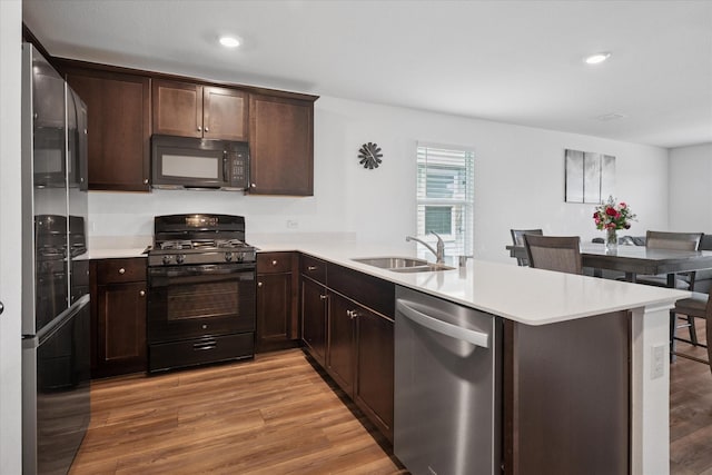
[[[524,246],[508,245],[511,257],[526,258]],[[604,244],[582,243],[583,267],[593,269],[601,277],[603,270],[625,274],[625,280],[635,283],[637,275],[666,275],[668,287],[675,287],[675,275],[712,268],[712,251],[656,249],[646,246],[619,245],[613,249]]]

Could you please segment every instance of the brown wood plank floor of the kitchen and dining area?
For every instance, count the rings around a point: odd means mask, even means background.
[[[684,344],[679,350],[703,354]],[[678,358],[670,374],[671,474],[712,475],[712,373]],[[299,349],[97,380],[91,392],[92,420],[73,475],[407,474]]]

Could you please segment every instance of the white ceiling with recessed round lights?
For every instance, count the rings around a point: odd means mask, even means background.
[[[660,147],[712,142],[709,0],[22,4],[58,57]],[[222,33],[244,47],[217,46]],[[597,51],[613,55],[583,62]],[[600,119],[612,113],[624,117]]]

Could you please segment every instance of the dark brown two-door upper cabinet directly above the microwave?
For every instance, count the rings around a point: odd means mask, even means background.
[[[155,79],[154,133],[247,140],[247,93],[229,88]]]

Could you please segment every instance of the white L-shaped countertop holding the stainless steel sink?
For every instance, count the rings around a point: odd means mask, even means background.
[[[646,306],[672,306],[686,290],[629,284],[501,263],[446,258],[454,270],[403,274],[356,263],[364,257],[416,257],[415,245],[358,241],[253,243],[261,251],[296,250],[467,307],[526,325],[546,325]],[[417,256],[423,257],[423,256]],[[426,256],[429,261],[435,258]]]

